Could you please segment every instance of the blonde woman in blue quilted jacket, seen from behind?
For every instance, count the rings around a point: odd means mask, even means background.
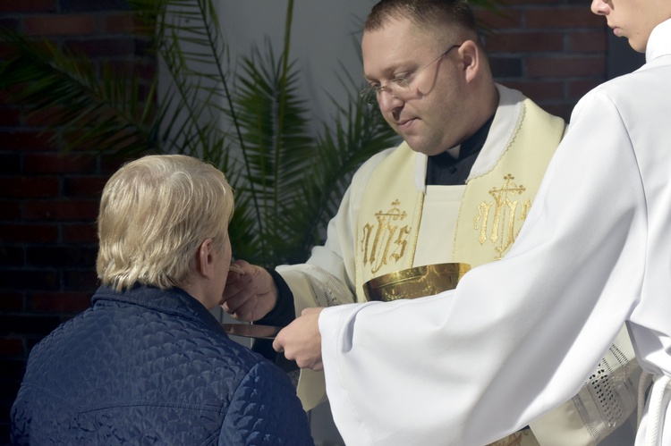
[[[30,353],[14,444],[313,444],[286,375],[209,313],[231,261],[233,191],[189,156],[107,182],[92,307]]]

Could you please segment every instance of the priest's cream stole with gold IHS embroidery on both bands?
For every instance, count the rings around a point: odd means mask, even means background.
[[[505,145],[502,155],[487,172],[466,183],[454,250],[446,252],[446,262],[476,266],[497,260],[522,227],[543,173],[564,136],[565,122],[529,99],[521,106],[509,138],[497,141],[498,147]],[[403,143],[378,164],[361,198],[356,228],[359,301],[365,300],[363,283],[413,266],[424,198],[424,190],[415,184],[417,156]]]

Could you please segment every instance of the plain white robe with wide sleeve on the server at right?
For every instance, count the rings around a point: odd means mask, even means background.
[[[437,296],[324,309],[348,445],[495,441],[569,400],[624,321],[655,382],[636,444],[671,445],[671,21],[646,61],[576,105],[502,260]]]

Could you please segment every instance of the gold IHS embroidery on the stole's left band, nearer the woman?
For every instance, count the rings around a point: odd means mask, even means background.
[[[392,260],[397,262],[405,254],[411,227],[403,225],[408,215],[399,209],[400,205],[401,202],[396,199],[391,209],[375,214],[377,223],[366,223],[363,226],[363,265],[370,265],[371,273],[377,273]]]

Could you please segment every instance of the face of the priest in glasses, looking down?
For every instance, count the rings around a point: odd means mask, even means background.
[[[471,131],[462,43],[407,20],[363,34],[364,77],[378,88],[386,122],[416,152],[437,155]]]

